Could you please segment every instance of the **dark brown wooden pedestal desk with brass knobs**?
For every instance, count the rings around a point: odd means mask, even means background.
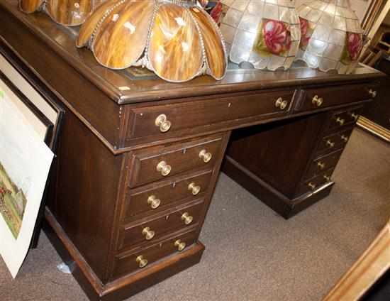
[[[284,217],[328,195],[382,77],[296,67],[172,84],[99,66],[74,47],[77,32],[19,12],[16,1],[0,1],[0,19],[1,53],[66,107],[46,218],[96,300],[120,300],[200,261],[233,130],[225,172]]]

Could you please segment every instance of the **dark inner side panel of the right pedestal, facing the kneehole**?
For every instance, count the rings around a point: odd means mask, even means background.
[[[288,197],[311,158],[326,113],[233,132],[228,155]]]

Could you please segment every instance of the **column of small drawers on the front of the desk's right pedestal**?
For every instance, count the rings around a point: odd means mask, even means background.
[[[313,151],[312,160],[296,192],[297,196],[321,189],[331,182],[333,170],[350,138],[361,108],[362,106],[357,106],[352,109],[332,111],[328,114]]]

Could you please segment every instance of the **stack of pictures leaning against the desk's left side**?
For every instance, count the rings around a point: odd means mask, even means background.
[[[13,277],[40,230],[62,114],[0,54],[0,255]]]

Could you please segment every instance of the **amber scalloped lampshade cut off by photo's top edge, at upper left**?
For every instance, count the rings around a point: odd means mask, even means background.
[[[56,23],[79,26],[104,0],[20,0],[19,9],[25,13],[45,11]]]

